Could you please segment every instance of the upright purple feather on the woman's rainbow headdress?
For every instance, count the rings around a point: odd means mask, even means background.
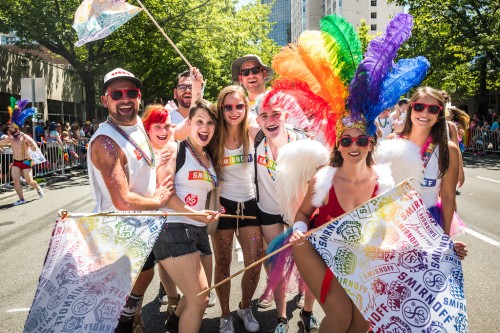
[[[373,106],[378,103],[382,82],[392,68],[397,50],[410,37],[412,26],[411,15],[397,14],[387,25],[384,34],[368,44],[365,57],[349,87],[351,112],[363,113],[368,124],[378,116]]]

